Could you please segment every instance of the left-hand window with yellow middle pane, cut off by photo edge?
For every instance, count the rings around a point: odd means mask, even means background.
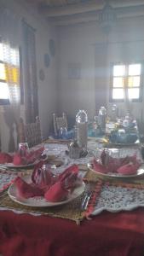
[[[16,49],[0,41],[0,105],[9,104],[12,95],[19,90],[19,58]]]

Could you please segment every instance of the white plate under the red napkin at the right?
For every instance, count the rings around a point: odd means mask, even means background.
[[[105,177],[137,177],[137,176],[144,174],[144,166],[141,166],[135,174],[131,174],[131,175],[124,175],[124,174],[113,173],[113,172],[107,172],[107,173],[96,172],[94,170],[92,164],[90,164],[90,163],[88,164],[88,168],[90,171],[95,172],[96,174],[99,174],[99,175],[105,176]]]

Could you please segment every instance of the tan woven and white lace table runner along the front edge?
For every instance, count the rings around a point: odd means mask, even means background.
[[[81,210],[85,193],[77,199],[58,207],[26,207],[12,201],[8,194],[0,197],[1,210],[13,210],[14,212],[28,212],[33,215],[49,215],[56,218],[68,218],[79,224],[84,218],[91,218],[103,210],[119,212],[130,211],[136,207],[144,207],[144,180],[135,179],[124,183],[118,179],[103,180],[95,173],[88,172],[85,181],[92,191],[88,207]]]

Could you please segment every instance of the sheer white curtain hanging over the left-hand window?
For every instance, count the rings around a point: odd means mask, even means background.
[[[20,61],[19,26],[20,20],[9,9],[1,8],[0,36],[3,52],[3,86],[0,83],[0,96],[3,88],[9,105],[0,108],[1,150],[14,151],[17,148],[16,124],[20,118]]]

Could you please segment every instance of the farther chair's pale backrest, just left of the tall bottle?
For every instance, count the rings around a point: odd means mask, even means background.
[[[58,131],[60,128],[66,128],[67,129],[67,118],[66,118],[66,113],[62,113],[62,116],[56,116],[55,113],[53,113],[53,122],[54,122],[54,131],[55,135],[58,134]]]

